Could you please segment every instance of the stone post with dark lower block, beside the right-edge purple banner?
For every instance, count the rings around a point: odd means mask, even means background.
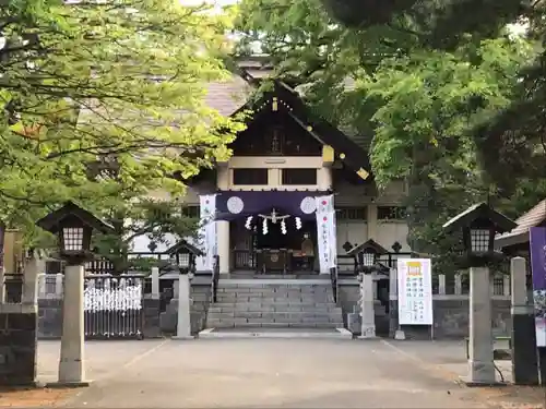
[[[535,317],[532,303],[526,302],[525,258],[510,263],[512,278],[512,378],[517,385],[538,385]]]

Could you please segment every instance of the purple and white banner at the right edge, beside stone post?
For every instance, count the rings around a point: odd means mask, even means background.
[[[546,227],[530,230],[536,346],[546,347]]]

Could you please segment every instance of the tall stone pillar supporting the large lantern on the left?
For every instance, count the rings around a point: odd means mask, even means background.
[[[87,386],[84,365],[83,265],[69,265],[64,270],[62,302],[62,338],[59,383]]]

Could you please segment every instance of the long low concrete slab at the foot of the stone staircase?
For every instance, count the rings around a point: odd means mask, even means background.
[[[353,334],[345,328],[307,329],[307,328],[206,328],[199,333],[199,338],[307,338],[307,339],[353,339]]]

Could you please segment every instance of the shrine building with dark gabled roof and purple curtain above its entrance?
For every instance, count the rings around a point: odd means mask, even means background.
[[[222,115],[252,112],[229,145],[233,156],[202,170],[183,199],[190,215],[214,219],[203,240],[209,256],[219,256],[221,274],[325,274],[328,265],[369,239],[408,252],[401,207],[405,183],[378,191],[370,137],[318,117],[282,81],[250,98],[268,71],[246,61],[230,81],[207,86],[206,103]],[[329,216],[322,215],[328,209]],[[135,245],[145,251],[143,241]]]

